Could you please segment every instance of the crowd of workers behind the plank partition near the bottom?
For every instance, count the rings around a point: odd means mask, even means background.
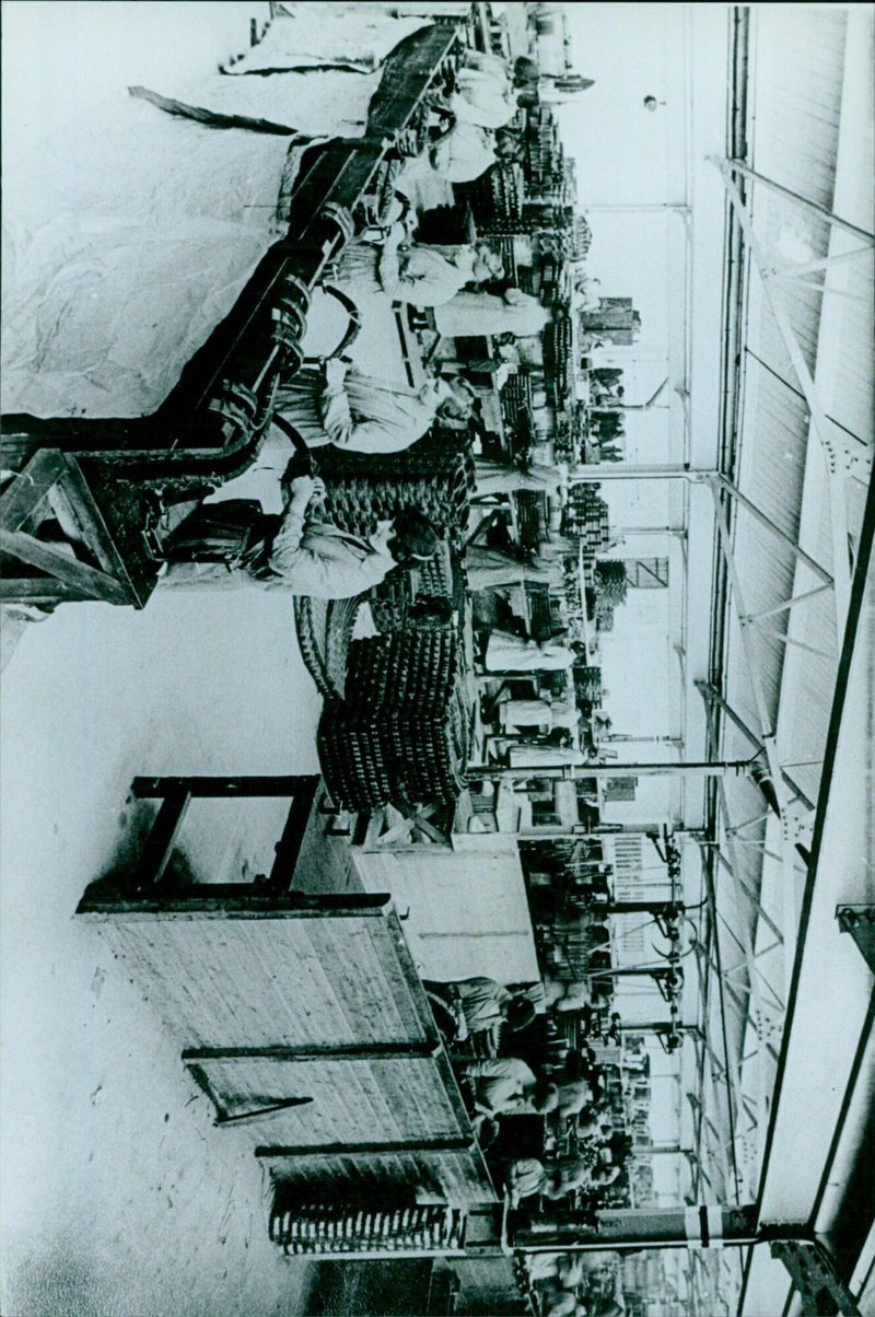
[[[609,997],[551,976],[510,985],[484,976],[426,980],[424,988],[509,1206],[573,1206],[594,1225],[601,1206],[622,1202],[631,1142],[609,1067],[596,1060],[597,1047],[619,1038]],[[572,1021],[575,1048],[563,1042]],[[519,1254],[515,1268],[542,1317],[625,1312],[617,1254]]]

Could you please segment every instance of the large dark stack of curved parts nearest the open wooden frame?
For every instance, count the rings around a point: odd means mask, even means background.
[[[328,701],[318,749],[344,809],[453,803],[464,788],[470,697],[452,630],[405,630],[349,647],[354,707]]]

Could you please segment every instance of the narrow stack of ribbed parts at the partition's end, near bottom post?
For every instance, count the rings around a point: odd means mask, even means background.
[[[274,1202],[270,1238],[287,1254],[453,1252],[465,1217],[445,1204],[364,1206],[348,1202]]]

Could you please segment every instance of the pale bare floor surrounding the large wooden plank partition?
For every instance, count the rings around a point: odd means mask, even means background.
[[[268,693],[268,698],[265,698]],[[254,1159],[138,985],[72,918],[124,843],[130,778],[316,769],[289,599],[62,606],[4,673],[3,1276],[11,1317],[298,1310]]]

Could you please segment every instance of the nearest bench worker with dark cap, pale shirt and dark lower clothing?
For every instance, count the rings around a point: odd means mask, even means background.
[[[322,481],[300,475],[287,486],[279,515],[265,514],[256,500],[202,504],[165,541],[169,566],[159,586],[257,585],[319,599],[351,599],[378,585],[393,568],[412,568],[438,552],[438,535],[419,512],[381,522],[373,535],[362,537],[310,515],[311,503],[323,495]],[[224,553],[223,525],[233,544]]]

